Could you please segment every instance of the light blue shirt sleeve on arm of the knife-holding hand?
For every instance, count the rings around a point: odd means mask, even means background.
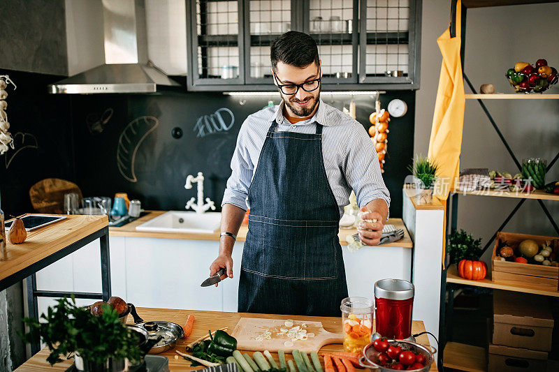
[[[227,180],[222,207],[224,204],[233,204],[245,211],[249,208],[247,197],[254,165],[245,146],[247,140],[246,126],[243,124],[237,137],[235,152],[231,158],[231,177]]]

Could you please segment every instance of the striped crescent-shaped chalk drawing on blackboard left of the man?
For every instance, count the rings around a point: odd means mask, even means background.
[[[117,147],[117,166],[120,174],[131,182],[138,182],[134,163],[136,154],[145,137],[159,125],[157,117],[138,117],[131,121],[120,133]]]

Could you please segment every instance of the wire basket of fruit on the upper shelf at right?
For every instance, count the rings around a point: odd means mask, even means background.
[[[538,59],[535,66],[518,62],[507,70],[506,76],[516,93],[542,93],[558,80],[556,68],[548,66],[545,59]]]

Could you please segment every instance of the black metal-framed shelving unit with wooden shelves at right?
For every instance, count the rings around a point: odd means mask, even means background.
[[[479,8],[479,7],[486,7],[486,6],[510,6],[510,5],[520,5],[520,4],[528,4],[528,3],[549,3],[549,2],[557,2],[557,1],[550,1],[550,0],[504,0],[504,1],[480,1],[480,0],[463,0],[462,1],[462,44],[460,50],[460,59],[462,67],[464,67],[464,45],[465,45],[465,25],[466,25],[466,12],[467,8]],[[451,3],[451,35],[456,36],[456,0],[453,0]],[[490,99],[490,100],[509,100],[509,99],[559,99],[559,94],[478,94],[476,89],[474,88],[473,84],[467,78],[465,74],[463,74],[464,80],[467,85],[472,90],[473,94],[466,94],[465,98],[467,100],[475,99],[478,101],[479,105],[481,105],[482,110],[484,110],[489,122],[493,130],[498,134],[503,146],[507,149],[508,154],[511,156],[512,160],[516,164],[518,170],[521,170],[521,163],[516,158],[516,155],[512,151],[511,147],[509,146],[506,138],[502,135],[498,124],[493,119],[493,116],[487,109],[486,105],[484,104],[483,100]],[[553,160],[547,166],[547,170],[558,161],[559,153],[553,158]],[[518,211],[521,205],[528,199],[537,200],[540,207],[546,214],[547,218],[549,219],[553,228],[559,234],[559,227],[554,221],[553,216],[549,213],[549,210],[546,208],[545,204],[542,200],[555,200],[559,201],[558,195],[552,195],[548,193],[544,193],[543,191],[535,191],[533,193],[510,193],[507,191],[471,191],[471,192],[453,192],[451,191],[451,197],[447,200],[447,231],[456,230],[457,223],[458,223],[458,195],[479,195],[479,196],[490,196],[490,197],[502,197],[502,198],[518,198],[520,201],[516,204],[516,207],[511,211],[509,216],[504,219],[503,223],[500,227],[495,231],[495,234],[489,241],[487,242],[486,246],[484,246],[484,252],[492,246],[492,243],[497,235],[497,232],[502,230],[505,225],[510,221],[512,216]],[[447,244],[448,246],[448,244]],[[446,257],[448,258],[448,252]],[[482,281],[467,281],[463,278],[458,276],[456,265],[448,265],[447,269],[442,270],[441,275],[441,302],[440,302],[440,352],[438,355],[438,366],[448,367],[451,369],[461,369],[463,371],[486,371],[486,366],[482,365],[481,361],[481,352],[485,352],[484,348],[479,348],[473,345],[465,345],[462,343],[452,342],[452,312],[453,312],[453,299],[454,299],[454,291],[460,287],[460,285],[472,285],[477,287],[483,288],[490,288],[490,289],[500,289],[500,290],[509,290],[514,292],[526,292],[526,293],[533,293],[537,295],[545,295],[545,296],[552,296],[552,297],[559,297],[559,292],[556,291],[542,291],[537,288],[531,288],[529,285],[508,285],[504,283],[496,283],[491,280],[491,273],[488,273],[488,278]],[[448,295],[448,305],[447,305],[447,291],[449,292]],[[445,352],[448,352],[449,355],[445,357]],[[475,366],[472,366],[468,363],[472,362],[472,353],[474,354],[475,361],[477,361]],[[483,355],[485,357],[485,355]]]

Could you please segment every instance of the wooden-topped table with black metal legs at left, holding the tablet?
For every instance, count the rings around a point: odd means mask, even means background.
[[[0,260],[0,290],[27,278],[28,316],[38,318],[37,297],[103,299],[110,297],[110,261],[107,216],[66,216],[66,219],[27,233],[22,244],[6,244]],[[35,273],[53,262],[99,239],[101,246],[101,293],[37,290]],[[38,343],[31,353],[38,352]]]

